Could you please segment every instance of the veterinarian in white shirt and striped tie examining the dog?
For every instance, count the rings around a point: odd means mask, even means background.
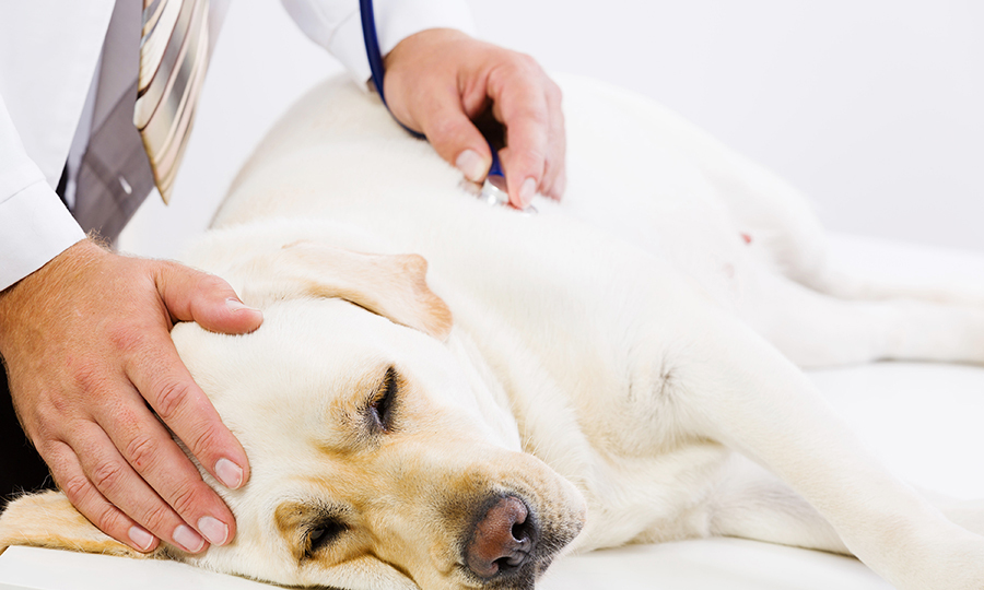
[[[305,34],[368,80],[356,2],[283,3]],[[113,241],[155,185],[169,197],[221,4],[0,9],[0,354],[11,393],[0,384],[0,494],[47,474],[15,408],[55,483],[139,551],[163,539],[197,553],[235,535],[231,511],[167,428],[229,488],[249,479],[246,455],[180,363],[169,329],[197,321],[237,334],[262,317],[218,278],[119,256],[85,232]],[[464,0],[376,4],[387,98],[401,122],[481,181],[491,155],[470,118],[491,102],[508,129],[501,156],[511,201],[559,198],[560,94],[540,67],[469,36]],[[120,148],[124,139],[137,148]]]

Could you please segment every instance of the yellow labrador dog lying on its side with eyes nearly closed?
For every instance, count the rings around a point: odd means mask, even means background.
[[[982,363],[984,297],[850,280],[782,181],[652,103],[562,85],[569,194],[535,214],[473,198],[347,84],[277,126],[187,258],[262,328],[174,330],[249,456],[247,486],[216,486],[238,534],[156,556],[529,590],[564,552],[731,535],[984,588],[984,510],[894,480],[799,368]],[[56,493],[10,506],[0,544],[130,554]]]

